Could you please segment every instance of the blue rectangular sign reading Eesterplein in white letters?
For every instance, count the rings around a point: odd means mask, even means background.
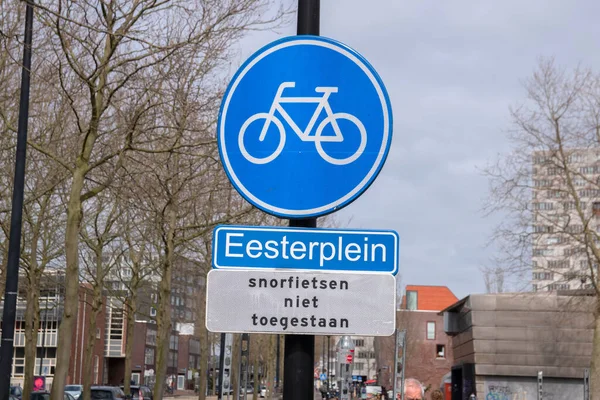
[[[400,238],[389,230],[219,225],[213,267],[398,273]]]

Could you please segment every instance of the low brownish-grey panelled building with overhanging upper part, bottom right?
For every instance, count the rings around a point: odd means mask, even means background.
[[[452,336],[452,400],[583,398],[592,354],[589,291],[470,295],[442,311]]]

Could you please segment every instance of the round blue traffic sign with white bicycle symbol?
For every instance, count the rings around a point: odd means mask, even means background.
[[[254,53],[221,103],[225,171],[250,203],[284,218],[339,210],[377,177],[392,139],[387,91],[356,51],[292,36]]]

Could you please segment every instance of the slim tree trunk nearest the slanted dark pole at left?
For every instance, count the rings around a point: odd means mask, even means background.
[[[25,309],[25,377],[23,380],[23,400],[29,400],[33,388],[35,359],[37,357],[37,337],[40,327],[40,276],[37,268],[29,271],[29,287]],[[42,349],[44,351],[45,349]]]

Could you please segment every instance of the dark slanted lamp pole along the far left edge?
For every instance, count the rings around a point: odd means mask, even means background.
[[[23,68],[21,70],[21,95],[19,99],[19,125],[17,128],[17,155],[13,185],[10,237],[6,264],[6,289],[2,312],[2,341],[0,347],[0,400],[8,400],[12,373],[17,290],[19,288],[19,256],[21,255],[21,221],[23,217],[23,191],[25,187],[25,151],[27,148],[27,121],[29,119],[29,83],[31,70],[31,37],[33,4],[26,3],[25,40],[23,43]]]

